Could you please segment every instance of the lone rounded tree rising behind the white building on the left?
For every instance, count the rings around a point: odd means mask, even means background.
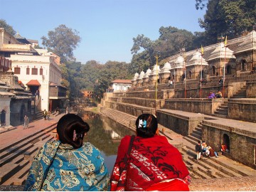
[[[68,28],[65,25],[60,25],[55,28],[54,31],[48,32],[48,38],[43,36],[42,44],[46,46],[48,50],[56,53],[60,56],[61,62],[66,60],[73,60],[73,50],[77,48],[81,38],[78,36],[78,31],[73,31],[72,28]]]

